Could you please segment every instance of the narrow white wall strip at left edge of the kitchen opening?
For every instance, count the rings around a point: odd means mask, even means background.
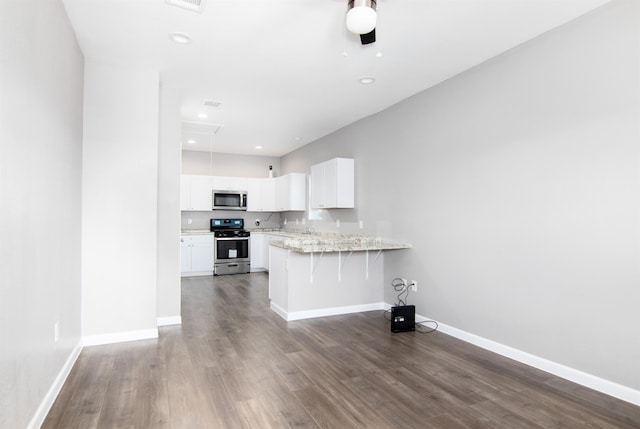
[[[180,92],[161,89],[158,148],[159,324],[180,322]]]

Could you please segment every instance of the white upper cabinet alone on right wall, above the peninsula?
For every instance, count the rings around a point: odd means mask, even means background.
[[[334,158],[311,166],[311,208],[355,207],[354,161]]]

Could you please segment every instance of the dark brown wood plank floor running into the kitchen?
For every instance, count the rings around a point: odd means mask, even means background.
[[[85,348],[43,428],[640,428],[640,407],[382,312],[287,323],[267,282],[183,279],[183,324]]]

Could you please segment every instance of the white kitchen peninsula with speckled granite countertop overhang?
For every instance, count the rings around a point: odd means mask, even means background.
[[[383,252],[408,248],[377,237],[283,233],[269,246],[271,309],[285,320],[382,309]]]

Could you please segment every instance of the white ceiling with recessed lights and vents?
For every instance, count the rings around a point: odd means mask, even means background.
[[[163,86],[182,91],[184,149],[265,156],[284,155],[608,1],[378,0],[377,42],[361,46],[345,29],[347,0],[207,0],[202,13],[165,0],[63,0],[85,58],[157,68]],[[192,43],[170,40],[176,31]],[[376,82],[362,85],[362,76]],[[222,104],[204,107],[203,99]]]

